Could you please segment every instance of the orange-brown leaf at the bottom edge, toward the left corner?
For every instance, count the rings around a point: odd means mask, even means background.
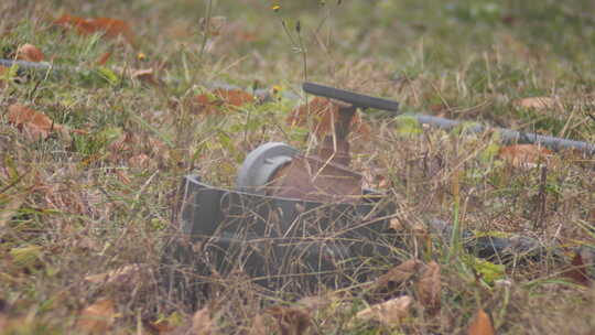
[[[113,301],[99,300],[87,306],[78,317],[76,327],[89,334],[106,334],[116,318]]]

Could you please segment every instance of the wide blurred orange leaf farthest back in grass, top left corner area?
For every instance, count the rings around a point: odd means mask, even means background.
[[[77,33],[88,35],[102,32],[104,36],[115,39],[122,36],[128,43],[134,44],[134,34],[127,22],[110,18],[84,19],[68,14],[62,15],[54,24],[64,28],[75,28]]]

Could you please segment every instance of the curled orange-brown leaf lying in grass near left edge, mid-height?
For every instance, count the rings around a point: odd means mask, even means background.
[[[39,139],[40,137],[45,139],[52,130],[64,130],[61,125],[54,123],[43,112],[18,104],[9,106],[8,119],[10,123],[25,131],[33,139]]]

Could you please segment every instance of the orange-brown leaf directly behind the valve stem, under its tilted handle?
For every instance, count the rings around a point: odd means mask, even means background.
[[[307,105],[295,108],[288,117],[286,122],[290,126],[307,127],[309,122],[313,121],[314,129],[312,130],[320,139],[323,139],[333,130],[333,123],[338,119],[338,105],[333,104],[329,99],[315,97]],[[349,131],[368,138],[371,128],[359,114],[356,114],[351,118]]]

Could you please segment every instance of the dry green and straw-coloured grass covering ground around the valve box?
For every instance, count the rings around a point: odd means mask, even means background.
[[[0,332],[76,333],[80,311],[105,298],[115,302],[113,333],[148,333],[147,325],[158,320],[192,324],[193,311],[156,285],[182,177],[197,173],[231,187],[236,169],[258,144],[311,145],[304,129],[285,122],[296,104],[291,99],[201,114],[192,97],[214,83],[247,90],[278,85],[283,96],[299,93],[307,76],[396,99],[407,111],[595,142],[592,2],[326,2],[281,3],[273,12],[266,1],[213,1],[213,15],[227,19],[218,37],[205,36],[198,25],[209,1],[0,4],[2,58],[31,43],[55,64],[83,68],[26,75],[0,88],[0,325],[7,325]],[[56,28],[52,21],[61,13],[123,19],[138,46]],[[109,61],[94,66],[108,51]],[[163,68],[156,75],[162,85],[121,75],[121,68],[148,67]],[[515,104],[539,96],[560,104],[538,110]],[[8,121],[8,107],[15,102],[85,133],[28,139]],[[381,112],[365,117],[375,131],[353,144],[354,168],[389,181],[385,191],[399,204],[405,226],[454,217],[462,229],[522,234],[561,244],[569,252],[563,261],[551,256],[509,264],[500,278],[505,281],[495,283],[477,279],[484,268],[474,258],[433,238],[429,248],[416,245],[398,258],[442,261],[437,314],[415,301],[396,328],[374,322],[349,326],[367,302],[331,294],[328,305],[312,312],[311,329],[456,334],[465,332],[478,309],[491,315],[499,334],[595,329],[593,288],[561,275],[572,248],[595,247],[592,156],[555,153],[543,180],[540,169],[499,159],[495,153],[501,144],[494,136],[419,133],[408,130],[411,125],[398,131],[397,121]],[[423,237],[413,229],[410,242],[418,241]],[[143,268],[132,284],[85,280],[133,263]],[[271,305],[298,306],[239,282],[204,304],[218,332],[246,332]],[[400,293],[416,294],[413,284]]]

